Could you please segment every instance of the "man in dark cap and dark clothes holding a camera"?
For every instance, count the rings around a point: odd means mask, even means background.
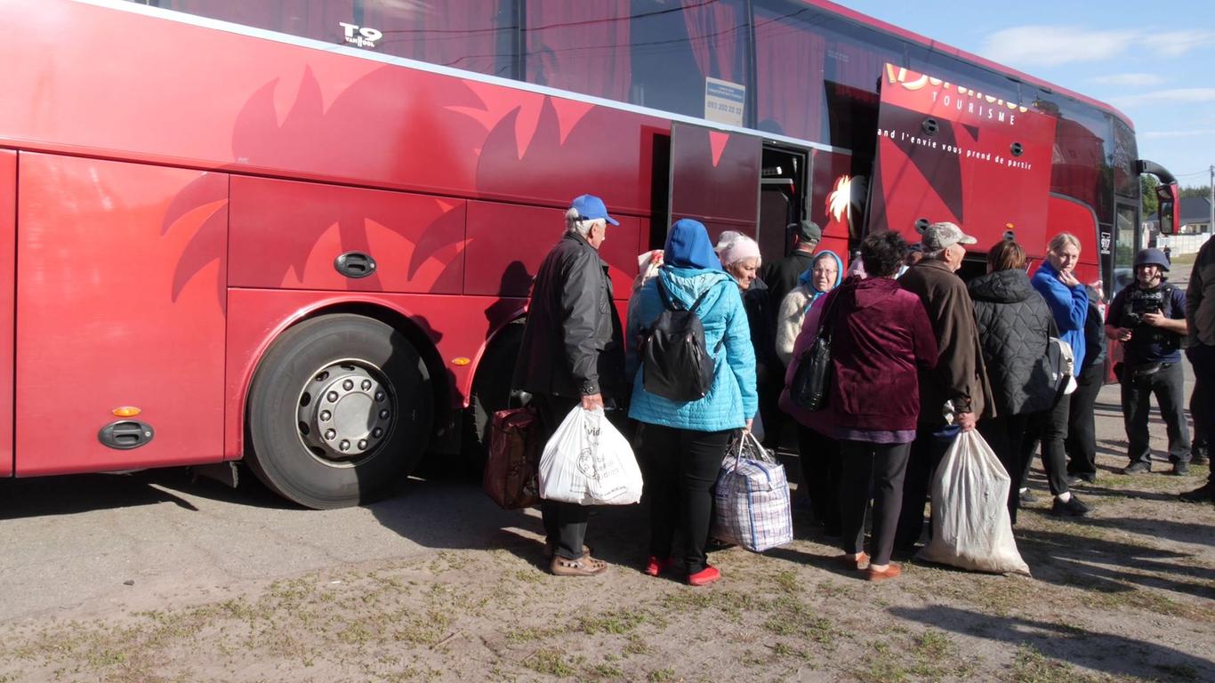
[[[1106,317],[1106,334],[1123,343],[1118,376],[1130,457],[1123,474],[1152,470],[1147,427],[1152,394],[1169,434],[1172,474],[1189,473],[1189,429],[1181,368],[1181,343],[1188,333],[1186,294],[1164,281],[1168,271],[1169,260],[1164,253],[1141,250],[1135,255],[1135,282],[1114,297]]]

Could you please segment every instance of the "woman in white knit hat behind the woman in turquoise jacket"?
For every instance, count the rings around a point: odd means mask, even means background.
[[[727,231],[714,248],[725,272],[734,277],[742,294],[751,328],[751,344],[756,356],[756,386],[759,391],[759,418],[764,445],[775,447],[780,439],[784,416],[776,406],[780,396],[784,365],[776,357],[776,307],[768,295],[768,286],[759,280],[759,244],[746,235]],[[762,433],[762,434],[761,434]]]

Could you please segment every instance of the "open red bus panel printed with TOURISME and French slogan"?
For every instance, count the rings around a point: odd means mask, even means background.
[[[1011,235],[1041,258],[1055,119],[1015,100],[886,64],[868,230],[919,242],[917,228],[950,221],[978,238],[976,256]],[[982,272],[974,258],[959,275]]]

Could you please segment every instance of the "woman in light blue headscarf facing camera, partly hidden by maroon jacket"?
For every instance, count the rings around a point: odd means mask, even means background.
[[[814,255],[810,267],[797,278],[798,286],[785,295],[776,315],[776,355],[786,366],[793,360],[793,345],[802,332],[808,312],[827,292],[843,282],[843,261],[833,252]],[[821,307],[815,306],[821,314]],[[812,323],[818,318],[814,316]],[[813,324],[818,331],[818,324]],[[812,333],[813,334],[813,333]],[[784,408],[784,403],[780,406]],[[801,420],[798,420],[801,422]],[[840,442],[823,430],[806,424],[797,425],[798,462],[802,467],[802,486],[809,493],[814,519],[823,524],[824,532],[840,535]]]

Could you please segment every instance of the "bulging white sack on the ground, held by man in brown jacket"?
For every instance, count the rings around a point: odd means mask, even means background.
[[[1008,519],[1011,480],[978,430],[962,431],[932,480],[932,541],[916,559],[995,574],[1029,574]]]

